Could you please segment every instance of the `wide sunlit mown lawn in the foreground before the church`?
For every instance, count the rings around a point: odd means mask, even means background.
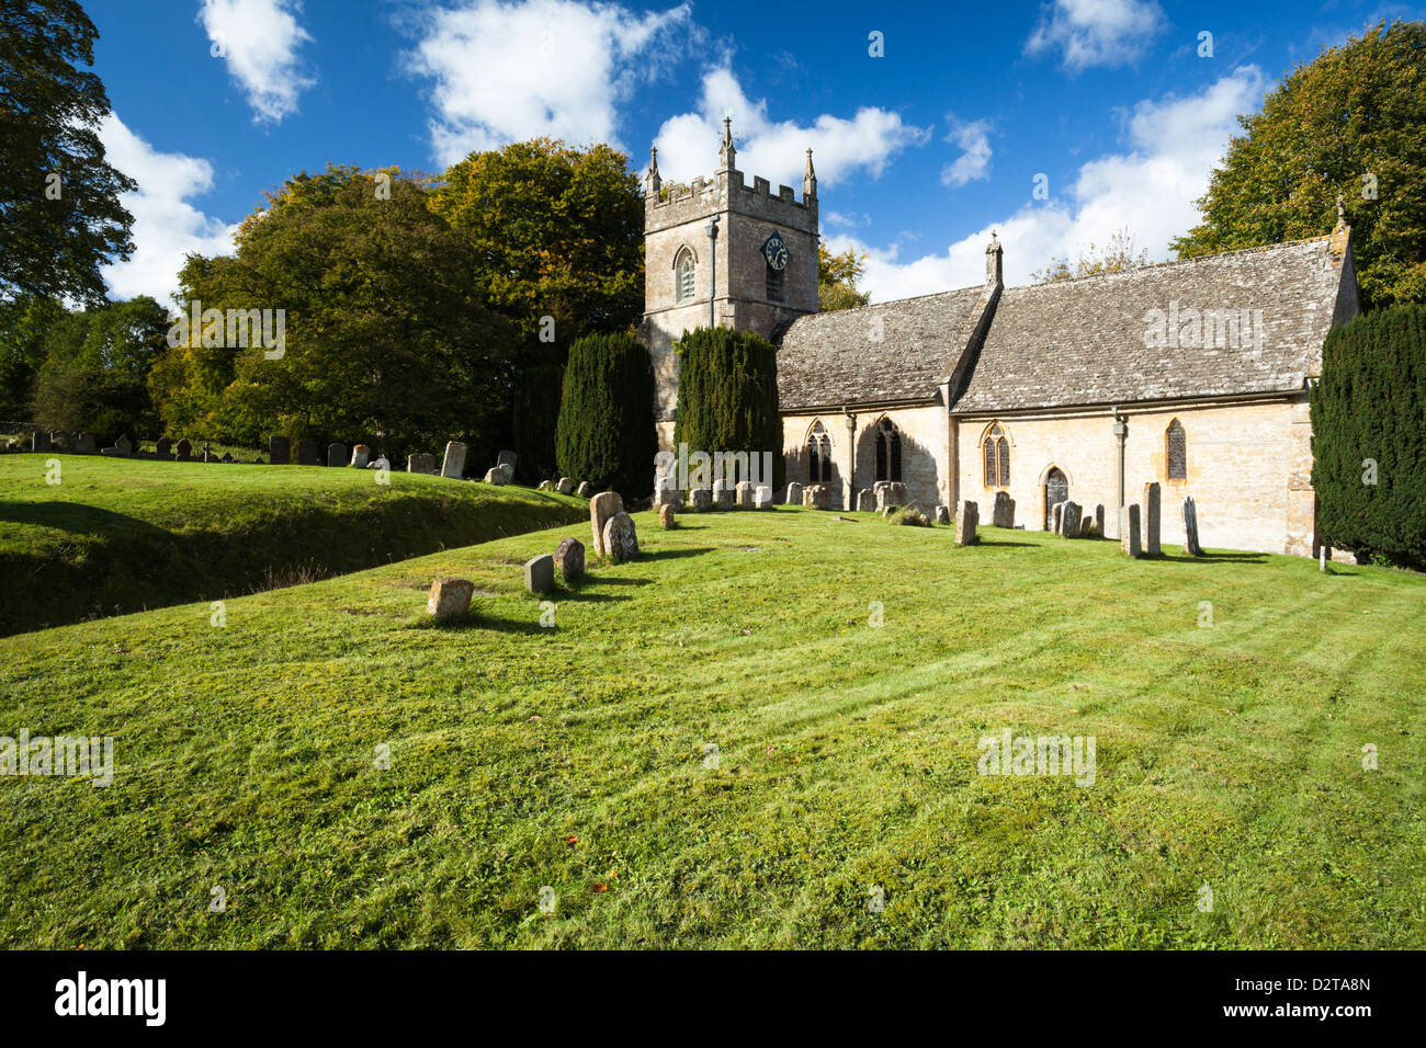
[[[0,780],[0,944],[1426,945],[1426,579],[680,519],[555,632],[519,563],[588,525],[0,640],[0,734],[118,764]],[[1095,786],[977,776],[1005,726]]]

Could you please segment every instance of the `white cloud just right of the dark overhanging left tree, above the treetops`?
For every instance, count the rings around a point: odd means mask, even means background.
[[[184,255],[231,254],[238,227],[184,202],[212,188],[212,165],[207,160],[158,153],[114,114],[104,117],[98,137],[108,163],[138,183],[135,192],[120,195],[134,215],[134,254],[127,262],[104,267],[110,294],[153,295],[167,304],[178,287]]]

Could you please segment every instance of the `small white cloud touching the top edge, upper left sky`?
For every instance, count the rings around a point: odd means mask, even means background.
[[[221,44],[228,73],[242,84],[254,123],[297,113],[298,96],[315,80],[301,70],[297,48],[312,37],[297,16],[299,0],[202,0],[198,20]]]

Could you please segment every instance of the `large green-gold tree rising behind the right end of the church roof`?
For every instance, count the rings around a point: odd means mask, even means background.
[[[1239,123],[1181,258],[1320,237],[1340,195],[1363,308],[1426,302],[1426,23],[1328,48]]]

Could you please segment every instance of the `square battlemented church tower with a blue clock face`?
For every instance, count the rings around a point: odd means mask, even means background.
[[[713,180],[665,185],[657,150],[649,155],[643,202],[643,325],[655,374],[660,448],[673,446],[684,331],[720,325],[771,338],[786,322],[817,312],[817,174],[807,150],[803,198],[766,178],[743,183],[732,120]]]

